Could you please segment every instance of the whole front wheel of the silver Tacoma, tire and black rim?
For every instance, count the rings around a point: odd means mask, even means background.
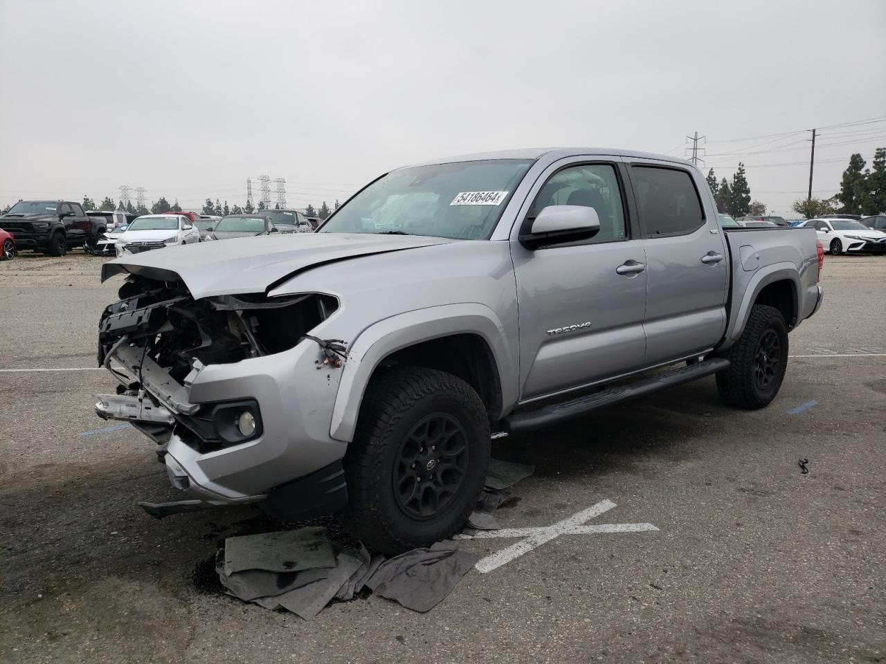
[[[467,382],[424,367],[372,379],[345,455],[348,506],[339,516],[389,555],[462,529],[489,466],[486,408]]]

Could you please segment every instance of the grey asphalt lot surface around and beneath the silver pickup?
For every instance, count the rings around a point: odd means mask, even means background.
[[[763,411],[720,405],[707,379],[496,442],[537,467],[502,525],[608,498],[592,523],[657,531],[557,537],[430,614],[370,597],[313,622],[214,583],[217,542],[275,528],[257,512],[136,508],[174,495],[152,443],[92,413],[113,390],[91,368],[119,284],[101,263],[0,263],[0,660],[886,661],[886,258],[826,259],[825,305]]]

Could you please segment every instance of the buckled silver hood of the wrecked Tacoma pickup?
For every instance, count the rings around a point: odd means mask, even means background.
[[[102,266],[102,281],[114,274],[181,279],[195,299],[265,292],[309,267],[385,251],[405,251],[455,242],[424,235],[291,233],[206,242],[144,251]]]

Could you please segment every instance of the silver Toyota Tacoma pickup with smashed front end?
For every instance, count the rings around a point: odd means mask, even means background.
[[[159,444],[190,494],[339,513],[382,552],[460,529],[491,432],[715,374],[761,408],[821,305],[812,228],[720,228],[685,161],[591,149],[393,170],[314,234],[113,260],[97,413]]]

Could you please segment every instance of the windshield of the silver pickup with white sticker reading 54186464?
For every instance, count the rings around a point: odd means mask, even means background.
[[[401,168],[339,207],[317,232],[486,239],[531,165],[491,159]]]

